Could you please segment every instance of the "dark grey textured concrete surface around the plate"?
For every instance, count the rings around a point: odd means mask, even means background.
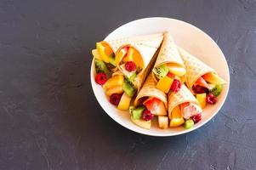
[[[100,108],[90,51],[131,20],[206,31],[230,66],[219,114],[192,133],[133,133]],[[256,169],[255,0],[0,1],[0,169]]]

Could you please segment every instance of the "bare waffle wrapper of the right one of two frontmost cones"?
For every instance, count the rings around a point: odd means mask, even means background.
[[[169,93],[168,94],[169,117],[171,116],[171,113],[174,110],[174,107],[176,107],[177,105],[183,104],[185,102],[190,102],[190,103],[199,105],[195,96],[193,94],[191,94],[191,91],[185,85],[181,86],[178,93],[176,93],[176,94]]]

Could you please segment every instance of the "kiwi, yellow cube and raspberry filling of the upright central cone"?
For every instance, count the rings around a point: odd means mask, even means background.
[[[185,75],[185,68],[177,64],[163,64],[154,70],[156,77],[156,88],[165,94],[169,91],[177,93],[181,88],[180,78]]]

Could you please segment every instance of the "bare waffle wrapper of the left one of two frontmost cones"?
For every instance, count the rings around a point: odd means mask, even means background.
[[[134,100],[134,105],[139,105],[141,99],[144,97],[154,97],[160,99],[167,108],[167,96],[161,90],[156,88],[156,82],[154,81],[152,74],[149,74],[149,76],[146,78],[143,87],[141,88],[139,94]]]

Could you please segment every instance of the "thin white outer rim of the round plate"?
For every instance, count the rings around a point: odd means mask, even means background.
[[[178,136],[178,135],[181,135],[181,134],[185,134],[185,133],[190,133],[194,130],[196,130],[197,128],[199,127],[202,127],[203,125],[206,125],[210,120],[213,119],[214,116],[216,116],[218,113],[219,113],[219,110],[222,108],[222,106],[225,104],[225,100],[229,94],[229,90],[230,90],[230,70],[229,70],[229,65],[227,64],[227,60],[225,58],[225,54],[222,52],[221,48],[219,48],[219,45],[213,41],[213,38],[210,37],[205,31],[202,31],[201,29],[199,29],[198,27],[196,26],[193,26],[191,25],[190,23],[188,22],[185,22],[183,20],[178,20],[178,19],[174,19],[174,18],[168,18],[168,17],[147,17],[147,18],[141,18],[141,19],[138,19],[138,20],[132,20],[128,23],[125,23],[123,24],[122,26],[118,26],[116,29],[114,29],[113,31],[111,31],[111,33],[109,33],[104,39],[108,39],[109,37],[111,37],[111,34],[113,34],[115,31],[117,31],[117,29],[120,29],[124,26],[127,26],[128,24],[131,24],[131,23],[134,23],[134,22],[138,22],[140,20],[174,20],[176,22],[180,22],[182,24],[185,24],[185,25],[188,25],[188,26],[191,26],[193,28],[195,28],[197,31],[200,31],[202,34],[204,34],[205,36],[208,37],[209,40],[211,40],[211,42],[213,42],[213,45],[215,47],[217,47],[217,49],[219,50],[220,54],[222,54],[222,57],[225,59],[225,65],[226,67],[228,68],[227,69],[227,85],[226,85],[226,93],[225,93],[225,96],[224,96],[224,100],[223,100],[223,103],[221,105],[219,105],[219,108],[212,114],[212,116],[209,116],[209,118],[207,120],[205,120],[205,122],[202,122],[202,124],[196,126],[196,127],[192,127],[190,129],[185,129],[184,131],[181,131],[181,132],[177,132],[177,133],[150,133],[150,130],[147,131],[147,132],[139,132],[139,131],[136,131],[135,129],[129,127],[129,126],[126,126],[124,125],[122,122],[119,122],[117,119],[115,119],[113,116],[111,116],[111,114],[108,113],[108,111],[105,110],[105,108],[100,105],[100,107],[103,109],[103,111],[105,111],[105,113],[111,117],[111,119],[113,119],[115,122],[117,122],[119,125],[121,125],[122,127],[125,127],[125,128],[128,128],[129,130],[135,132],[135,133],[139,133],[139,134],[144,134],[144,135],[147,135],[147,136],[154,136],[154,137],[169,137],[169,136]],[[91,78],[91,86],[93,88],[93,91],[94,91],[94,96],[95,98],[97,99],[98,103],[100,104],[100,99],[99,97],[97,97],[97,95],[95,94],[95,88],[94,88],[94,84],[93,84],[93,81],[94,81],[94,73],[93,73],[93,68],[94,68],[94,58],[92,59],[92,62],[91,62],[91,68],[90,68],[90,78]]]

